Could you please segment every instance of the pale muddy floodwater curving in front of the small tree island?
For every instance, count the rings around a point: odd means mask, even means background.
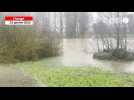
[[[92,58],[95,50],[97,50],[96,44],[92,39],[64,39],[62,62],[65,66],[78,67],[92,65],[114,72],[134,72],[134,61],[96,60]]]

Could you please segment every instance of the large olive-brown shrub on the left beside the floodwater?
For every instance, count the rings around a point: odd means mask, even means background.
[[[56,56],[59,54],[61,43],[61,38],[56,37],[58,35],[51,32],[3,30],[0,33],[0,62],[38,60]]]

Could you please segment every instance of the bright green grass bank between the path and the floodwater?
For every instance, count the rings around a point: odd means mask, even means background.
[[[59,58],[58,58],[59,59]],[[16,64],[40,84],[50,87],[134,86],[134,74],[113,73],[95,67],[65,67],[54,58]],[[58,63],[57,63],[58,62]]]

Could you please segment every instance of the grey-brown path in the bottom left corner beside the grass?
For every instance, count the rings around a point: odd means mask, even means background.
[[[37,81],[14,65],[0,66],[0,87],[36,87],[40,86]]]

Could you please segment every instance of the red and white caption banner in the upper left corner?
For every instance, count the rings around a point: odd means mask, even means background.
[[[5,16],[5,25],[33,25],[32,16]]]

